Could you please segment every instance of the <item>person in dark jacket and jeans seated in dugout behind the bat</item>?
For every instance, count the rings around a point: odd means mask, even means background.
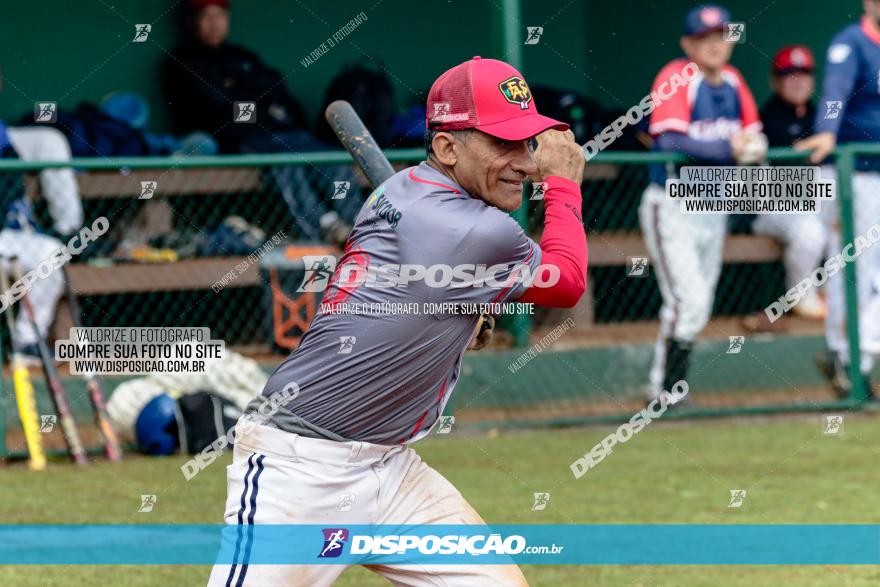
[[[284,76],[253,51],[227,41],[229,0],[187,0],[186,39],[165,62],[162,77],[177,133],[208,132],[223,153],[326,151],[316,139]],[[255,107],[247,103],[254,103]],[[348,166],[268,169],[302,238],[344,243],[360,209]]]

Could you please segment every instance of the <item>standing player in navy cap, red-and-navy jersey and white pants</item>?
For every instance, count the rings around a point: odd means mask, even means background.
[[[651,113],[655,150],[676,151],[690,165],[731,165],[741,160],[750,135],[761,131],[758,108],[745,80],[728,65],[733,44],[724,41],[730,14],[720,6],[701,6],[685,18],[681,47],[687,59],[671,61],[657,75],[652,91],[665,100]],[[688,67],[700,73],[671,96],[669,80]],[[650,373],[650,399],[669,393],[685,379],[691,348],[709,321],[727,232],[727,215],[684,214],[666,197],[672,166],[655,166],[642,196],[639,220],[660,284],[660,335]]]

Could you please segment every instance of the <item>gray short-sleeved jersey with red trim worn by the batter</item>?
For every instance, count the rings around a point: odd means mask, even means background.
[[[579,214],[579,202],[577,208]],[[322,311],[266,384],[269,398],[290,384],[299,388],[270,425],[385,445],[424,436],[455,387],[478,314],[423,310],[514,300],[526,286],[511,274],[523,265],[534,274],[541,258],[541,248],[510,216],[427,163],[395,174],[364,203]],[[438,264],[494,266],[496,273],[492,281],[465,278],[441,286],[430,278],[394,287],[334,281],[343,267]],[[391,307],[400,311],[382,311]]]

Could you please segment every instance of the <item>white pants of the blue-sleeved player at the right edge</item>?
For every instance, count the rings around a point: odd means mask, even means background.
[[[822,176],[836,177],[833,167],[823,166]],[[828,255],[837,255],[844,245],[840,234],[840,207],[837,200],[822,205],[822,217],[829,232]],[[868,229],[880,223],[880,173],[857,172],[853,177],[853,213],[855,236],[865,235]],[[849,249],[850,251],[852,249]],[[870,371],[880,356],[880,244],[862,251],[856,259],[859,343],[861,370]],[[843,272],[828,279],[828,316],[825,319],[825,337],[828,348],[849,363],[849,339],[846,333],[846,292]]]

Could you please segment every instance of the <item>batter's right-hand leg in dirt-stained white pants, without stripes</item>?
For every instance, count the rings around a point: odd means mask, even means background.
[[[408,448],[373,467],[380,482],[379,524],[474,524],[485,522],[459,491]],[[406,587],[527,586],[516,565],[365,565]]]

